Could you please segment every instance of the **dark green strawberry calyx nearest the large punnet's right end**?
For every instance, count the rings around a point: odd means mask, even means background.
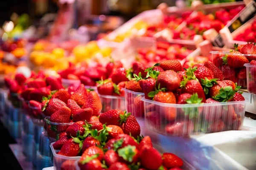
[[[212,96],[212,99],[215,99],[218,102],[228,102],[233,99],[235,93],[236,91],[234,91],[232,87],[227,86],[225,88],[221,88],[216,96]]]

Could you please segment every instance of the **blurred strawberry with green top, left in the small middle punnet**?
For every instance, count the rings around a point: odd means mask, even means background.
[[[97,84],[97,90],[99,94],[102,95],[113,95],[114,92],[114,86],[111,79],[105,79],[104,81],[98,81]]]

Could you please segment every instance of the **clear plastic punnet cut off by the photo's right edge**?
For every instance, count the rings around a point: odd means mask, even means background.
[[[247,90],[249,93],[256,94],[256,65],[244,64],[246,67]]]

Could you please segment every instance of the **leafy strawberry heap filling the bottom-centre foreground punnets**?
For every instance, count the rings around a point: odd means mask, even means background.
[[[118,109],[93,116],[90,124],[79,121],[70,125],[52,146],[63,156],[81,156],[81,170],[181,170],[182,159],[172,153],[161,155],[149,136],[140,137],[140,125],[130,113]],[[74,168],[64,161],[61,169]]]

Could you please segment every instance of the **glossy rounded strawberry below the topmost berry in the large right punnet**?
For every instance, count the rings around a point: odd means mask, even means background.
[[[167,88],[168,91],[175,91],[180,87],[180,77],[172,70],[160,72],[157,77],[157,86],[160,84],[160,88]]]

